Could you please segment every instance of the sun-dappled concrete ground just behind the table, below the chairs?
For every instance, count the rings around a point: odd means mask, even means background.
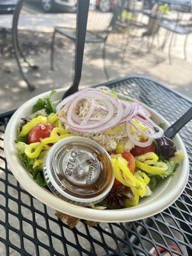
[[[191,39],[191,38],[190,38]],[[63,39],[65,40],[65,39]],[[65,42],[65,41],[64,41]],[[172,65],[168,63],[168,53],[152,49],[151,52],[143,52],[138,49],[140,42],[132,40],[124,54],[122,63],[122,51],[116,45],[106,47],[106,68],[109,79],[123,77],[131,74],[143,74],[152,76],[166,83],[170,88],[192,97],[192,75],[191,61],[192,49],[188,48],[191,54],[187,61],[182,60],[183,56],[179,51],[173,51]],[[179,48],[179,45],[178,45]],[[180,53],[180,54],[179,54]],[[177,55],[176,55],[177,54]],[[14,59],[0,60],[0,100],[2,102],[0,111],[7,111],[18,108],[23,102],[39,93],[55,88],[68,87],[72,83],[72,60],[74,58],[74,45],[65,42],[61,49],[55,54],[55,71],[50,70],[50,52],[33,56],[39,70],[28,72],[29,81],[35,84],[36,90],[29,92],[26,83],[19,74]],[[92,86],[107,81],[103,71],[101,49],[97,52],[93,47],[86,47],[83,63],[83,74],[81,86]],[[10,67],[10,73],[5,72]]]

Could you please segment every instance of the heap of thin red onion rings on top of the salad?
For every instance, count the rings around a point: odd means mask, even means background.
[[[140,113],[137,104],[134,104],[134,102],[127,103],[120,99],[116,99],[109,93],[102,92],[104,90],[107,90],[108,92],[111,91],[111,89],[106,86],[100,86],[96,89],[86,88],[62,100],[57,106],[57,110],[61,108],[61,114],[58,114],[60,120],[67,123],[72,130],[82,133],[100,133],[115,125],[126,123],[127,136],[132,143],[139,145],[140,147],[147,147],[148,145],[151,145],[152,139],[163,136],[163,129],[152,122],[148,116],[143,115],[145,119],[137,116],[138,113]],[[91,104],[86,116],[81,117],[76,114],[75,108],[77,102],[83,99],[89,100]],[[99,102],[103,102],[104,104]],[[93,116],[96,108],[105,111],[105,116],[103,118],[95,118]],[[66,118],[62,116],[62,111],[66,113]],[[145,124],[148,127],[148,131],[142,131],[138,125],[132,122],[132,118],[136,118],[138,121]],[[142,143],[139,139],[136,140],[131,134],[130,125],[133,125],[138,131],[146,135],[148,141]],[[154,127],[157,127],[159,131],[156,132]]]

